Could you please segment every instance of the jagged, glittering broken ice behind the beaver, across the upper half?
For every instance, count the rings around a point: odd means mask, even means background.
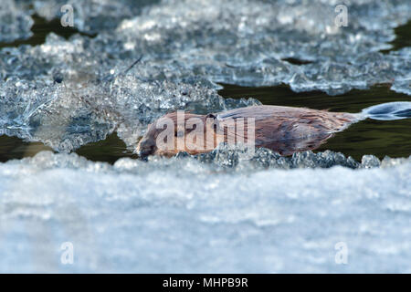
[[[390,47],[393,28],[411,16],[406,1],[347,4],[347,27],[335,26],[336,4],[323,1],[163,1],[135,5],[135,11],[126,9],[128,1],[112,9],[106,2],[87,3],[84,11],[71,3],[79,10],[76,26],[98,31],[96,37],[49,34],[37,47],[0,50],[3,132],[72,151],[118,130],[132,147],[147,123],[167,111],[227,109],[216,82],[285,83],[295,91],[329,94],[393,83],[395,91],[409,93],[409,47],[379,52]],[[47,14],[60,4],[36,1],[34,9]],[[119,18],[105,21],[119,10]],[[295,65],[288,57],[309,62]],[[185,88],[195,94],[182,97]]]

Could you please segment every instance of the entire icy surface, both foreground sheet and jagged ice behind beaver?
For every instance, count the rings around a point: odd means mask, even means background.
[[[5,3],[2,43],[67,2]],[[0,272],[411,272],[410,158],[260,151],[238,162],[223,150],[110,165],[68,154],[114,131],[132,150],[171,110],[259,104],[223,99],[219,82],[410,95],[411,48],[380,52],[409,1],[352,3],[340,28],[332,1],[68,3],[76,28],[97,36],[0,49],[0,134],[60,152],[0,164]],[[60,263],[64,242],[74,265]],[[347,265],[334,261],[339,242]]]

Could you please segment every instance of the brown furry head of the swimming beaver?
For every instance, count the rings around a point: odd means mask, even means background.
[[[142,158],[149,155],[173,156],[179,151],[190,154],[212,151],[219,140],[215,141],[215,128],[216,116],[213,114],[171,112],[148,126],[136,151]]]

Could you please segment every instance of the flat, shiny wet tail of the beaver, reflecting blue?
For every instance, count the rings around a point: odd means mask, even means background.
[[[364,109],[361,116],[374,120],[401,120],[411,118],[411,102],[395,101]]]

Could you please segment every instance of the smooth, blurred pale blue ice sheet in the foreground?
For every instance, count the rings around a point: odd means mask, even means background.
[[[0,164],[0,271],[410,272],[410,173],[40,152]]]

